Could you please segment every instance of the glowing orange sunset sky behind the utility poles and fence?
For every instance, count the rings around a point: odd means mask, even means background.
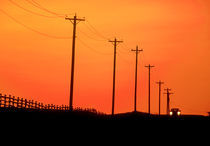
[[[0,92],[68,104],[72,40],[46,37],[25,27],[50,36],[72,37],[72,24],[63,18],[38,16],[55,17],[31,5],[28,1],[32,0],[12,1],[22,8],[10,0],[0,2]],[[148,70],[144,66],[149,63],[155,65],[152,113],[158,113],[155,82],[160,79],[164,88],[175,93],[171,107],[179,107],[184,114],[210,111],[208,0],[35,1],[53,12],[76,12],[87,20],[77,31],[74,106],[111,112],[113,45],[90,31],[91,24],[105,37],[124,41],[117,51],[117,113],[133,111],[135,54],[130,49],[136,45],[144,49],[139,55],[139,111],[148,111]],[[161,112],[165,113],[166,95],[162,101]]]

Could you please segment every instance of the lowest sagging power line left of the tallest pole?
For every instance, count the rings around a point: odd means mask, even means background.
[[[10,16],[8,13],[6,13],[4,10],[0,9],[0,11],[6,15],[7,17],[9,17],[10,19],[12,19],[14,22],[16,22],[17,24],[23,26],[24,28],[30,30],[30,31],[33,31],[39,35],[42,35],[42,36],[45,36],[45,37],[50,37],[50,38],[54,38],[54,39],[71,39],[72,37],[60,37],[60,36],[53,36],[53,35],[49,35],[49,34],[46,34],[46,33],[43,33],[43,32],[40,32],[40,31],[37,31],[23,23],[21,23],[20,21],[18,21],[17,19],[15,19],[14,17]]]

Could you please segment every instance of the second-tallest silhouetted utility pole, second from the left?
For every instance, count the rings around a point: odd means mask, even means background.
[[[114,71],[113,71],[113,91],[112,91],[112,115],[114,115],[114,104],[115,104],[115,71],[116,71],[116,51],[117,51],[117,45],[119,43],[123,43],[123,41],[118,41],[116,38],[114,41],[109,40],[114,45]]]

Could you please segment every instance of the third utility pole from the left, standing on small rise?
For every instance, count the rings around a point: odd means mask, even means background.
[[[131,51],[136,52],[136,71],[135,71],[135,95],[134,95],[134,112],[136,112],[136,103],[137,103],[137,72],[138,72],[138,54],[143,51],[139,50],[136,46],[136,50],[132,49]]]

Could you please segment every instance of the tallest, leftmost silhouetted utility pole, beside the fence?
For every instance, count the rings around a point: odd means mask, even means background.
[[[76,14],[74,18],[65,18],[66,20],[70,20],[73,24],[73,41],[72,41],[72,64],[71,64],[71,82],[70,82],[70,101],[69,101],[69,108],[73,110],[73,89],[74,89],[74,62],[75,62],[75,41],[76,41],[76,28],[77,24],[80,21],[85,21],[85,19],[77,18]]]

